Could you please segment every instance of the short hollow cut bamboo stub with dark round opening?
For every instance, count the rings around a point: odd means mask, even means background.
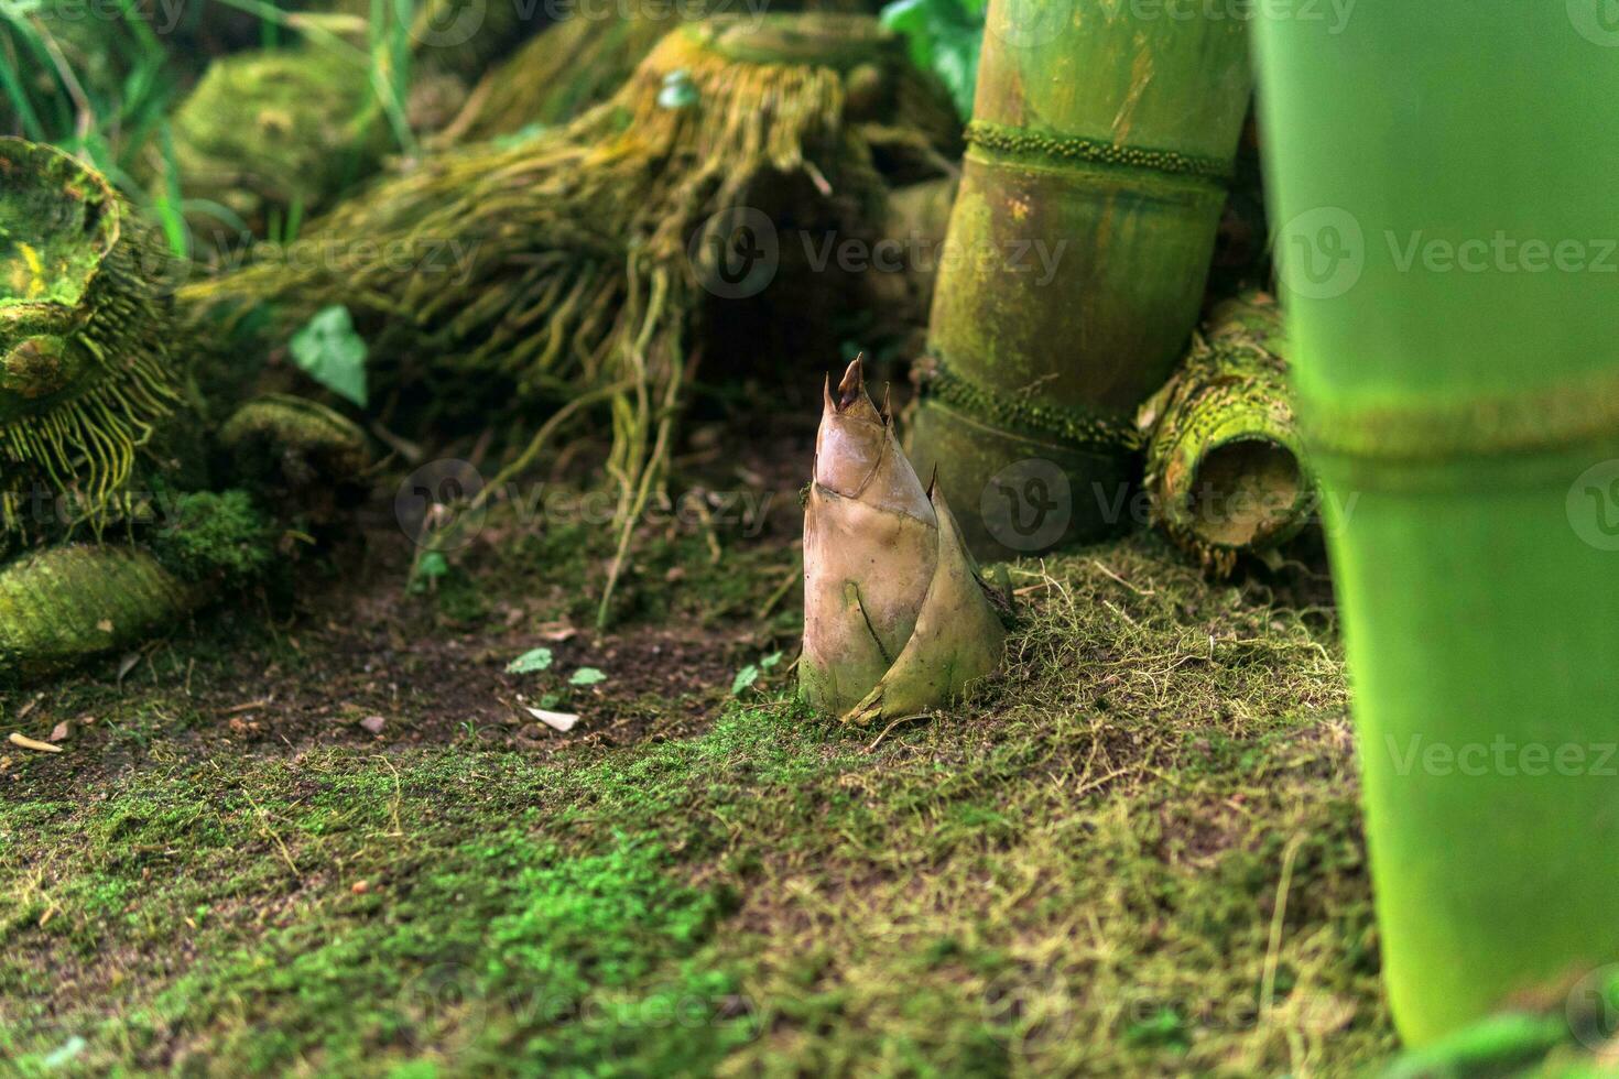
[[[1315,503],[1285,353],[1273,296],[1229,299],[1137,417],[1153,523],[1214,576],[1297,535]]]

